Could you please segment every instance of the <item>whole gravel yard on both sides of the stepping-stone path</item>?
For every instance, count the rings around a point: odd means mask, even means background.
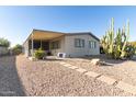
[[[0,95],[135,95],[61,65],[67,63],[135,86],[135,60],[107,61],[113,66],[93,66],[90,58],[32,61],[24,55],[1,57]]]

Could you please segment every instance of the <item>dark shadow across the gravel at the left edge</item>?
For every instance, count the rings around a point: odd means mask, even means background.
[[[0,97],[25,97],[16,71],[15,56],[0,57]]]

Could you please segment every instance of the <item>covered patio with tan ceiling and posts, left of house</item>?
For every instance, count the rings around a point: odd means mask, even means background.
[[[60,42],[53,42],[53,41],[61,36],[64,36],[64,33],[33,30],[33,32],[24,43],[24,46],[27,46],[27,48],[25,48],[24,52],[27,52],[27,56],[33,56],[36,49],[42,48],[47,53],[47,55],[52,55],[52,49],[55,46],[60,45],[58,44]]]

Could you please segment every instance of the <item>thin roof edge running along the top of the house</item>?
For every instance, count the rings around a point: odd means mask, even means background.
[[[97,41],[100,42],[100,39],[99,39],[94,34],[92,34],[91,32],[63,33],[63,32],[54,32],[54,31],[45,31],[45,30],[36,30],[36,29],[34,29],[34,30],[32,31],[32,33],[35,33],[35,32],[64,34],[64,35],[84,35],[84,34],[88,34],[88,35],[91,35],[93,38],[95,38]],[[26,41],[31,37],[32,33],[31,33],[30,36],[26,38]],[[25,41],[25,42],[26,42],[26,41]],[[24,42],[24,43],[25,43],[25,42]]]

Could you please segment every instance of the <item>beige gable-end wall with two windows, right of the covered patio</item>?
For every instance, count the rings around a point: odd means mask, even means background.
[[[77,48],[75,47],[75,38],[84,39],[84,47]],[[89,48],[89,41],[97,42],[97,48]],[[65,36],[65,50],[67,57],[81,57],[86,55],[99,55],[100,45],[99,42],[93,38],[91,35],[67,35]]]

